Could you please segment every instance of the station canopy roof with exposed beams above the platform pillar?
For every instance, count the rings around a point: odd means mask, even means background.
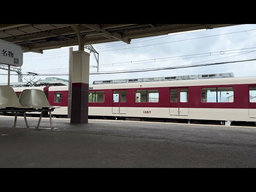
[[[176,32],[214,29],[238,24],[0,24],[0,39],[22,46],[23,52],[121,41],[127,44],[138,38]],[[75,29],[74,29],[75,28]]]

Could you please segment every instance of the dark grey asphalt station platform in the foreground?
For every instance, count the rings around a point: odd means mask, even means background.
[[[0,116],[0,168],[256,168],[256,128]]]

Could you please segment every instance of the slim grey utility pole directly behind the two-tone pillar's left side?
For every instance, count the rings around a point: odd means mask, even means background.
[[[73,62],[73,47],[69,48],[69,65],[68,65],[68,118],[71,117],[71,96],[72,96],[72,62]]]

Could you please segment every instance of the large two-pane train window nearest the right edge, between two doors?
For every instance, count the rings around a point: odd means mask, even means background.
[[[201,89],[202,102],[234,102],[234,88],[202,88]]]

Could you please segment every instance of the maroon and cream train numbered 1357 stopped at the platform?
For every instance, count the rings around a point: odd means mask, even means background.
[[[68,115],[68,86],[13,87],[45,92],[52,115]],[[233,73],[94,81],[88,118],[190,124],[256,125],[256,77]]]

